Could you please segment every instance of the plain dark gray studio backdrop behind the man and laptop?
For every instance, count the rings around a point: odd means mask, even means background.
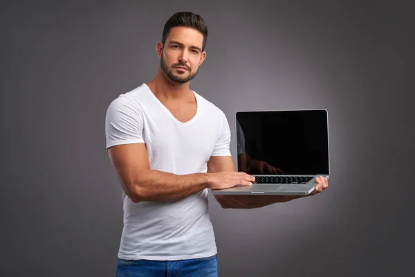
[[[115,276],[122,189],[104,116],[156,74],[179,10],[208,24],[191,87],[228,116],[232,154],[237,110],[329,111],[324,193],[249,211],[210,195],[220,276],[412,271],[410,1],[251,2],[1,1],[1,276]]]

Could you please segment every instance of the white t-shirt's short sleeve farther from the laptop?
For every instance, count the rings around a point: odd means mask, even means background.
[[[107,109],[105,135],[107,149],[114,145],[144,143],[143,116],[140,107],[127,96],[119,96]]]

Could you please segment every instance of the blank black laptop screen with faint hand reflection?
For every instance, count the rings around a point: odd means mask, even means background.
[[[326,110],[237,112],[238,170],[250,175],[328,175]]]

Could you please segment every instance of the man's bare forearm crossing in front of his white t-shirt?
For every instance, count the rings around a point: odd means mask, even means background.
[[[208,188],[209,173],[174,175],[157,170],[143,170],[133,181],[134,202],[170,202]]]

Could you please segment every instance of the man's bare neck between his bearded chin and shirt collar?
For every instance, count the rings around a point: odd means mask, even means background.
[[[190,82],[178,84],[169,80],[165,74],[158,69],[156,77],[147,83],[149,89],[154,95],[163,100],[180,100],[192,96],[193,93],[189,89]]]

